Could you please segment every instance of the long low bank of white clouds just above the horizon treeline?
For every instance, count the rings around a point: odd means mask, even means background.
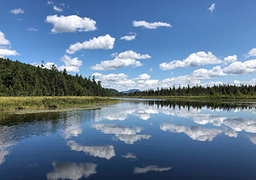
[[[115,54],[118,56],[118,54]],[[231,58],[230,58],[231,59]],[[234,58],[235,59],[235,58]],[[150,79],[150,75],[147,73],[142,73],[138,75],[138,77],[129,79],[127,75],[124,73],[120,74],[109,74],[102,75],[101,73],[94,73],[97,77],[97,80],[102,81],[102,86],[107,88],[117,89],[118,91],[126,91],[128,89],[148,89],[157,87],[178,87],[178,86],[213,86],[214,84],[223,84],[220,80],[202,82],[202,80],[206,79],[214,79],[217,77],[223,77],[228,75],[241,75],[246,73],[256,73],[256,59],[252,59],[250,61],[234,61],[234,63],[225,66],[225,68],[221,68],[221,66],[214,66],[213,68],[207,70],[205,68],[200,68],[198,70],[193,71],[189,75],[180,75],[177,77],[170,77],[163,80],[159,79]],[[108,78],[107,78],[108,77]],[[116,79],[111,79],[112,77],[116,77]],[[234,84],[255,84],[256,80],[252,79],[249,81],[239,81],[234,80]]]

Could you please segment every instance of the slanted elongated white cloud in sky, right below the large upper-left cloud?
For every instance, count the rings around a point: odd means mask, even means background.
[[[83,43],[77,42],[66,50],[68,54],[75,54],[82,49],[113,49],[115,44],[115,38],[112,38],[109,34],[105,36],[99,36],[92,38],[91,40],[84,41]]]

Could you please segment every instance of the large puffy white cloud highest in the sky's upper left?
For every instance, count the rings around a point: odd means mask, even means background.
[[[46,17],[46,22],[53,24],[51,33],[72,33],[72,32],[87,32],[97,29],[96,21],[88,17],[79,17],[77,15],[69,15],[58,17],[57,15],[49,15]]]

